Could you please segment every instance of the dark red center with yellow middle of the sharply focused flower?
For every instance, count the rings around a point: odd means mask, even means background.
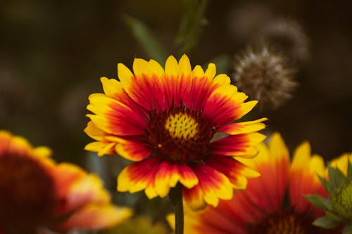
[[[184,105],[155,110],[146,127],[147,141],[158,156],[169,160],[202,160],[215,133],[202,114],[201,110],[189,110]]]

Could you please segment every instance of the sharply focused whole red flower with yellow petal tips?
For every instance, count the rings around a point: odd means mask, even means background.
[[[265,118],[234,122],[257,101],[216,75],[210,63],[191,69],[187,56],[170,56],[165,70],[155,60],[135,58],[133,73],[118,64],[118,78],[101,78],[104,93],[89,96],[84,130],[95,142],[86,150],[118,154],[134,163],[118,176],[118,190],[144,190],[147,197],[165,197],[182,184],[184,199],[193,209],[230,200],[233,188],[245,188],[256,171],[235,160],[254,157],[252,147],[265,136]]]

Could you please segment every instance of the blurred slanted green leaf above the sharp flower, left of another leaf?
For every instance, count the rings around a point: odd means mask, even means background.
[[[122,20],[126,23],[134,38],[142,45],[144,51],[151,58],[157,60],[159,63],[163,63],[166,59],[166,53],[155,37],[153,37],[149,28],[142,21],[132,18],[129,15],[122,15]]]

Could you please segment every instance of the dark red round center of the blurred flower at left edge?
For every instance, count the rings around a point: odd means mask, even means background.
[[[5,233],[21,233],[43,224],[56,204],[54,179],[46,167],[27,155],[0,155],[0,191],[0,226]]]

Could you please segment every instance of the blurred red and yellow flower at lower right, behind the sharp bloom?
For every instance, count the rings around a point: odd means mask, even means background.
[[[322,211],[303,196],[327,195],[318,178],[325,174],[322,157],[311,155],[310,145],[305,142],[296,148],[290,162],[279,134],[273,134],[268,146],[260,144],[258,150],[256,158],[241,162],[251,165],[261,176],[249,179],[246,190],[235,193],[230,201],[220,201],[218,207],[201,212],[185,209],[185,233],[325,233],[311,225]],[[172,216],[168,221],[173,223]]]

